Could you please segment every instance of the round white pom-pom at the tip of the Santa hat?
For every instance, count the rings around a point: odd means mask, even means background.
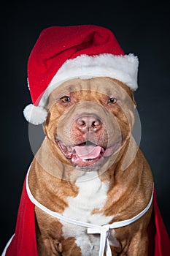
[[[24,108],[23,116],[25,116],[29,123],[38,125],[44,123],[46,120],[47,110],[45,110],[45,108],[29,104]]]

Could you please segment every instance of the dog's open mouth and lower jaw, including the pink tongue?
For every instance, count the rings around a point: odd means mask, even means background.
[[[84,171],[98,170],[98,167],[101,167],[121,146],[120,140],[108,148],[96,145],[90,141],[74,146],[68,146],[58,139],[55,141],[66,159],[69,159],[74,167]]]

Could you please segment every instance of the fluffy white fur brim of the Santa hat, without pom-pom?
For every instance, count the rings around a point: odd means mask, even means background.
[[[137,85],[139,60],[133,53],[124,56],[115,56],[104,53],[96,56],[81,55],[75,59],[69,59],[58,69],[45,90],[39,106],[44,107],[50,93],[66,80],[74,78],[109,77],[125,83],[135,91]]]

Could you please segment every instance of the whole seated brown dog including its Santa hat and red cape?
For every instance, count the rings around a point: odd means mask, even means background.
[[[23,113],[42,124],[45,139],[3,256],[169,251],[150,165],[133,137],[138,66],[101,26],[42,31],[28,59],[32,104]]]

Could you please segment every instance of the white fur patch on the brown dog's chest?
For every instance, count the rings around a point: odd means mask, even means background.
[[[82,222],[88,222],[95,225],[105,225],[109,223],[113,217],[104,216],[97,213],[102,210],[107,200],[107,191],[109,183],[101,182],[100,178],[93,178],[92,173],[86,173],[77,182],[79,194],[77,197],[69,197],[69,207],[65,209],[63,215]],[[96,214],[94,214],[96,210]],[[101,211],[102,212],[102,211]],[[98,255],[99,236],[89,235],[87,228],[77,225],[63,224],[64,238],[74,237],[77,246],[80,247],[82,255]],[[114,236],[115,231],[112,230]]]

